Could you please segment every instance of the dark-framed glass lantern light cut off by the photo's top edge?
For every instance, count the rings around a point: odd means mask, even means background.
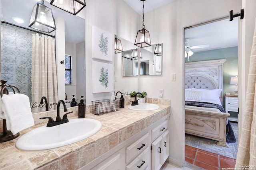
[[[51,0],[50,4],[73,15],[76,15],[86,6],[85,0]]]

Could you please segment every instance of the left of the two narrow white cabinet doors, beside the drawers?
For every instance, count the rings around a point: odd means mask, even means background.
[[[151,162],[152,162],[152,170],[159,170],[162,166],[162,136],[158,137],[152,144],[152,154],[151,154]]]

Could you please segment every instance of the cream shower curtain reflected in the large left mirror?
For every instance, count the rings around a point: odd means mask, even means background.
[[[32,35],[32,113],[45,111],[37,107],[41,98],[48,100],[48,110],[56,109],[58,103],[55,40],[47,35]]]

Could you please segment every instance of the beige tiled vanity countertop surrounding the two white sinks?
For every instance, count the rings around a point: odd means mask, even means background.
[[[19,137],[0,143],[0,169],[76,170],[170,113],[170,105],[159,106],[154,111],[134,111],[125,106],[120,111],[105,115],[86,113],[86,118],[99,120],[102,129],[83,141],[64,147],[36,151],[19,150],[15,147]],[[69,119],[72,118],[77,117]],[[42,124],[25,129],[20,135],[40,126]]]

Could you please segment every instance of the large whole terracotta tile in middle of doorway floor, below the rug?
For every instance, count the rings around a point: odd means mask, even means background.
[[[196,160],[215,167],[219,166],[218,157],[203,152],[197,152]]]

